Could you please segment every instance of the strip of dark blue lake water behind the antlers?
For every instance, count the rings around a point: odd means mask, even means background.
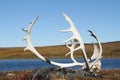
[[[52,59],[56,62],[69,63],[70,59]],[[78,59],[79,62],[82,62],[82,59]],[[120,68],[120,59],[102,59],[102,69],[118,69]],[[36,68],[47,68],[55,67],[44,61],[29,59],[29,60],[0,60],[0,71],[19,71],[19,70],[29,70]],[[79,66],[73,67],[79,68]]]

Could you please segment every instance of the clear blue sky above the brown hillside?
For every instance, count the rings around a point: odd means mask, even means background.
[[[33,45],[61,45],[72,36],[59,32],[69,28],[61,13],[72,19],[85,43],[94,41],[87,30],[101,42],[120,41],[120,0],[0,0],[0,47],[24,47],[22,28],[36,16]]]

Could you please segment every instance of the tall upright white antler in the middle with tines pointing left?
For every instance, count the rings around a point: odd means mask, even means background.
[[[76,50],[82,50],[83,52],[83,57],[84,57],[84,60],[85,60],[85,64],[86,64],[86,69],[89,70],[90,69],[90,66],[89,66],[89,63],[88,63],[88,58],[87,58],[87,55],[86,55],[86,52],[85,52],[85,47],[84,47],[84,42],[80,36],[80,34],[78,33],[77,29],[75,28],[72,20],[64,13],[62,13],[63,16],[65,17],[66,21],[68,21],[68,23],[70,24],[70,28],[67,29],[67,30],[60,30],[61,32],[72,32],[73,33],[73,36],[69,39],[67,39],[66,41],[64,41],[64,43],[67,43],[68,41],[72,41],[72,46],[69,48],[70,49],[70,52],[71,53],[71,58],[74,62],[76,62],[76,60],[74,59],[73,57],[73,53],[74,51]],[[79,43],[80,43],[80,46],[78,46],[77,48],[75,48],[75,41],[74,40],[77,40]]]

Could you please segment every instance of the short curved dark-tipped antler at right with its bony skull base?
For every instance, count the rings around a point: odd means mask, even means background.
[[[91,36],[96,39],[97,43],[99,44],[99,49],[96,44],[94,44],[94,52],[90,59],[88,59],[90,71],[97,71],[99,72],[101,70],[101,61],[102,58],[102,46],[100,41],[98,40],[97,36],[91,31],[88,30],[91,33]],[[86,68],[86,65],[84,64],[83,69]]]

